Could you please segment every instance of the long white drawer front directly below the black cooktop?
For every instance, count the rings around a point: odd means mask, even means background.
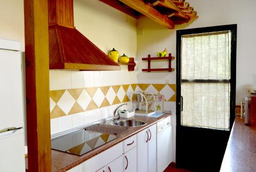
[[[122,142],[82,163],[82,172],[95,172],[122,155]]]

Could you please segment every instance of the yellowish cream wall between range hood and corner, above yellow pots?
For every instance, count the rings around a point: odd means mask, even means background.
[[[107,53],[113,47],[119,54],[136,57],[137,20],[98,0],[74,0],[75,27]]]

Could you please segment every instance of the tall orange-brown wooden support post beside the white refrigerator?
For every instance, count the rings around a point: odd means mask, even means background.
[[[24,0],[24,14],[28,168],[51,172],[48,1]]]

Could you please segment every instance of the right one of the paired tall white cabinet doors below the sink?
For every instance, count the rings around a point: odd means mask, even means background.
[[[148,128],[148,172],[157,171],[157,126]]]

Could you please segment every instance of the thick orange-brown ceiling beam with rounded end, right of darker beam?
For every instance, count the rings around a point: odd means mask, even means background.
[[[133,8],[134,10],[140,12],[141,14],[147,16],[148,18],[153,19],[154,21],[161,24],[162,26],[169,29],[174,29],[174,22],[171,19],[161,14],[159,11],[157,11],[150,5],[145,4],[143,1],[141,0],[119,0],[119,1]]]

